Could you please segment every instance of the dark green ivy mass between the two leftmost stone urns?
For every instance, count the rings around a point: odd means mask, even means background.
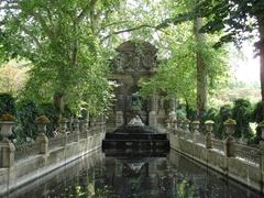
[[[25,140],[25,138],[35,139],[37,129],[35,119],[40,114],[40,110],[32,100],[20,100],[15,105],[18,127],[15,138]]]

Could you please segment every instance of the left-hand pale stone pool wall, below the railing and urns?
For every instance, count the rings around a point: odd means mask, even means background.
[[[25,155],[26,157],[15,160],[12,167],[0,168],[0,196],[101,147],[105,134],[105,127],[99,125],[84,134],[75,134],[75,139],[63,136],[64,145],[57,140],[50,140],[54,143],[47,147],[46,153]]]

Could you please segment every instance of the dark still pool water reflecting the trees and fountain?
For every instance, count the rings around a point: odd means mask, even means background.
[[[261,198],[263,195],[170,151],[166,157],[80,158],[7,197]]]

